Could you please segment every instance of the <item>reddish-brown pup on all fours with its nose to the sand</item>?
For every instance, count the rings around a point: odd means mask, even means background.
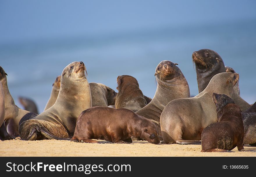
[[[96,106],[83,111],[71,141],[97,143],[102,139],[112,143],[131,143],[131,136],[150,143],[160,143],[156,125],[128,109]]]

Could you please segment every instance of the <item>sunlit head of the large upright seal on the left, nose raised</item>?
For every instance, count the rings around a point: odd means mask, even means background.
[[[64,68],[61,78],[69,78],[71,80],[86,79],[87,72],[85,75],[84,71],[86,72],[84,63],[82,61],[74,61]]]

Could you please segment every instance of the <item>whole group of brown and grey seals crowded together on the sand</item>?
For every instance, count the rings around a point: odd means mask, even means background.
[[[56,78],[39,115],[29,99],[19,99],[29,111],[15,105],[0,67],[0,138],[84,143],[132,143],[135,138],[153,144],[202,144],[202,152],[256,145],[256,102],[250,106],[239,96],[239,74],[225,67],[213,50],[193,52],[192,59],[199,90],[192,98],[178,64],[168,60],[155,69],[152,99],[132,76],[117,77],[116,93],[104,84],[88,83],[84,63],[72,62]]]

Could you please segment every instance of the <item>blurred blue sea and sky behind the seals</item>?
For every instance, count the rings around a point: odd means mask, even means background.
[[[18,96],[42,112],[66,65],[83,61],[88,81],[116,92],[134,76],[153,98],[162,60],[178,63],[198,94],[192,53],[209,48],[239,73],[241,97],[256,101],[256,1],[0,1],[0,65]]]

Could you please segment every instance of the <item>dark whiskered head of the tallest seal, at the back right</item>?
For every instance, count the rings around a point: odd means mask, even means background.
[[[201,49],[193,52],[192,54],[193,63],[195,63],[196,69],[211,69],[214,66],[218,66],[223,63],[223,60],[219,54],[210,49]]]

